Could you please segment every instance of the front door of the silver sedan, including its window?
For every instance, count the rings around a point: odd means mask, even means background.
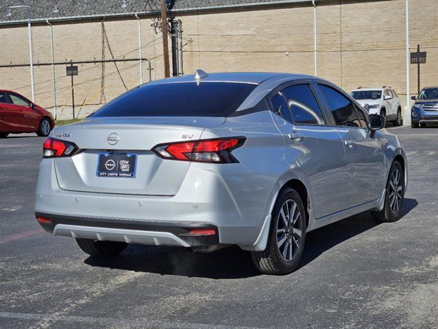
[[[381,141],[369,129],[367,114],[334,86],[319,84],[319,90],[343,140],[348,204],[358,206],[380,198],[385,186],[385,160]]]

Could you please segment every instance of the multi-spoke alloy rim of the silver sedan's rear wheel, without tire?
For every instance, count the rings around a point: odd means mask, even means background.
[[[292,199],[288,199],[277,218],[277,247],[283,260],[290,262],[297,254],[302,237],[300,210]]]

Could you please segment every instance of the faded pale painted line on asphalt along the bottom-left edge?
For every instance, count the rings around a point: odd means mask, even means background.
[[[107,317],[77,317],[71,315],[48,315],[39,313],[13,313],[0,312],[0,318],[23,319],[23,320],[43,320],[50,318],[52,321],[63,321],[69,323],[88,323],[102,324],[104,326],[117,326],[118,328],[160,328],[160,329],[260,329],[256,327],[223,326],[214,324],[194,324],[186,322],[170,321],[132,321],[110,319]]]

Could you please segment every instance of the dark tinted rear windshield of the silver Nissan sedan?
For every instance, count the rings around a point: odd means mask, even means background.
[[[232,82],[146,84],[91,117],[228,117],[254,88],[255,84]]]

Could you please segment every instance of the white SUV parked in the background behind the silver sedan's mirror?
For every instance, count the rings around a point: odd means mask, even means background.
[[[392,121],[393,125],[402,125],[402,106],[396,91],[391,87],[357,88],[350,95],[356,99],[369,114],[380,114]]]

